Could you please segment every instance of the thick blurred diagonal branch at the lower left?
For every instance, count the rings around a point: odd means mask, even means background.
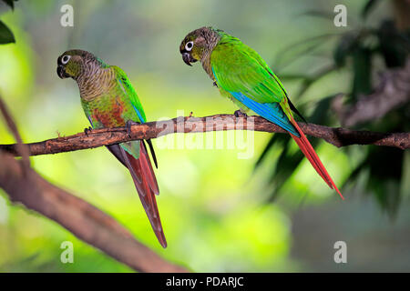
[[[73,235],[139,272],[186,272],[142,245],[97,207],[26,171],[22,160],[0,151],[0,187],[13,202],[46,216]]]

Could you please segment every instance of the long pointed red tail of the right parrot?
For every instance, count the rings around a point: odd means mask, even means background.
[[[298,137],[296,135],[291,134],[293,140],[301,148],[303,155],[307,157],[309,162],[311,162],[311,164],[314,167],[314,169],[316,170],[316,172],[320,176],[322,176],[324,182],[326,182],[326,184],[328,186],[330,186],[331,189],[336,190],[336,192],[344,200],[344,197],[343,197],[342,193],[340,193],[337,186],[334,185],[334,182],[333,182],[331,176],[329,175],[329,173],[327,173],[326,168],[323,166],[321,160],[319,159],[319,156],[317,156],[316,152],[313,149],[313,146],[311,145],[311,143],[309,143],[309,140],[303,134],[303,132],[302,132],[301,128],[299,127],[299,125],[296,123],[296,121],[293,118],[291,119],[291,122],[292,122],[292,125],[297,129],[297,131],[301,135],[301,137]]]

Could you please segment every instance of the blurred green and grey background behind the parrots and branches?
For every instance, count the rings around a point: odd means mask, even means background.
[[[0,94],[26,142],[81,132],[88,123],[77,85],[56,75],[57,56],[80,48],[127,72],[149,121],[175,117],[178,110],[185,115],[192,111],[195,116],[231,114],[237,108],[220,97],[200,65],[191,68],[182,62],[179,43],[188,32],[213,25],[251,45],[274,71],[274,64],[281,63],[279,77],[308,74],[332,63],[335,41],[323,44],[322,51],[329,54],[303,53],[305,57],[298,62],[291,63],[289,55],[282,59],[283,50],[307,36],[352,29],[365,3],[343,1],[347,27],[333,25],[333,7],[339,2],[328,0],[21,0],[14,11],[0,3],[0,19],[16,41],[0,45]],[[60,25],[60,8],[65,4],[74,7],[74,27]],[[306,15],[313,10],[331,18]],[[384,1],[374,8],[368,23],[377,24],[391,14]],[[340,68],[300,98],[298,80],[283,79],[283,83],[291,98],[296,95],[292,98],[296,106],[306,105],[302,114],[309,120],[323,96],[348,92],[351,78],[348,68]],[[339,124],[333,120],[326,125]],[[210,135],[214,134],[204,138]],[[0,136],[2,144],[14,142],[3,124]],[[153,141],[159,159],[158,201],[167,249],[153,235],[128,171],[106,148],[35,156],[31,161],[51,183],[114,216],[160,256],[197,272],[410,271],[408,182],[392,182],[391,195],[400,191],[402,198],[395,215],[389,216],[366,195],[367,188],[361,186],[365,175],[344,183],[370,146],[350,146],[346,151],[319,142],[316,148],[323,164],[337,185],[344,184],[345,201],[327,188],[306,161],[294,169],[281,196],[272,201],[267,181],[281,155],[280,146],[273,146],[262,165],[254,168],[271,136],[254,134],[254,155],[249,159],[239,159],[241,150],[237,149],[159,146],[176,135]],[[407,177],[403,181],[409,181],[408,152],[404,161],[400,172]],[[60,262],[60,244],[66,240],[74,243],[74,264]],[[347,243],[347,264],[333,261],[333,244],[339,240]],[[131,270],[56,223],[22,206],[12,206],[0,189],[0,271]]]

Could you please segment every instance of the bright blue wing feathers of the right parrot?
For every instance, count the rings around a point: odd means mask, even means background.
[[[298,131],[292,125],[288,116],[286,116],[279,103],[259,103],[251,98],[243,95],[241,92],[230,92],[235,99],[240,101],[243,105],[253,110],[256,114],[268,119],[275,125],[281,126],[284,130],[289,131],[292,135],[300,137]]]

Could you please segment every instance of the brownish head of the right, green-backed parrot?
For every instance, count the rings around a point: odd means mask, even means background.
[[[218,43],[219,35],[212,27],[200,27],[187,36],[179,45],[179,52],[185,64],[202,61]]]

